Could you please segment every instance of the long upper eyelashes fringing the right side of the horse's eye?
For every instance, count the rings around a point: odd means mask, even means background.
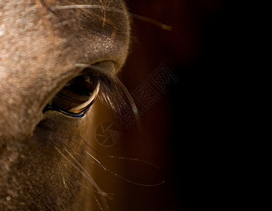
[[[140,129],[140,131],[142,130],[140,115],[135,101],[128,89],[120,82],[120,79],[118,79],[116,75],[96,65],[76,64],[75,66],[85,68],[89,77],[94,79],[94,82],[100,83],[101,92],[99,93],[99,99],[101,102],[119,114],[121,114],[123,108],[130,108],[135,116],[138,129]]]

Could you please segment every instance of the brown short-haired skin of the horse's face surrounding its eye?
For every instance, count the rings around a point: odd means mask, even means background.
[[[83,118],[42,110],[82,70],[75,64],[104,65],[116,74],[125,62],[125,6],[119,0],[102,3],[124,13],[51,10],[72,4],[62,0],[0,2],[0,210],[90,208],[90,182],[66,158],[73,160],[86,146],[79,135],[91,138],[85,128],[92,108]]]

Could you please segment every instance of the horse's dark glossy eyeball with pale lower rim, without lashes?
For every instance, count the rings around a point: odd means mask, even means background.
[[[44,108],[56,110],[71,117],[83,117],[99,94],[100,84],[94,84],[89,76],[80,75],[70,80]]]

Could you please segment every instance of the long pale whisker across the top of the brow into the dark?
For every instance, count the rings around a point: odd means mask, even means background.
[[[73,9],[73,8],[92,8],[92,9],[104,9],[104,11],[113,11],[116,13],[125,13],[125,11],[117,8],[112,8],[110,6],[101,6],[101,5],[88,5],[88,4],[82,4],[82,5],[65,5],[65,6],[52,6],[51,11],[56,11],[56,10],[66,10],[66,9]],[[160,27],[162,30],[166,31],[171,31],[172,27],[169,25],[165,25],[163,23],[160,23],[158,20],[154,20],[152,18],[146,18],[142,15],[135,15],[133,13],[128,14],[135,19],[142,20],[144,22],[150,23],[152,25],[156,25],[157,27]]]

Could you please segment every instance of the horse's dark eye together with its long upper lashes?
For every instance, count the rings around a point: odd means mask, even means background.
[[[115,113],[131,110],[140,126],[138,110],[125,85],[111,71],[95,65],[79,64],[83,67],[78,77],[70,80],[61,91],[52,98],[43,112],[56,110],[70,117],[82,118],[98,97],[100,101]]]

